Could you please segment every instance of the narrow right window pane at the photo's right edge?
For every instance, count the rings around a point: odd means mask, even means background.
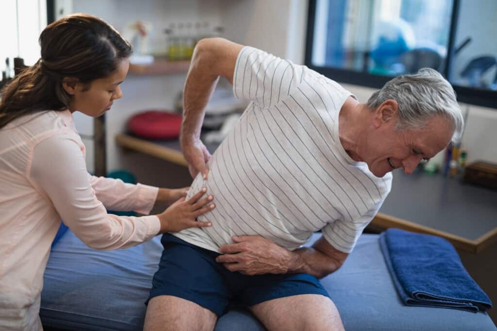
[[[454,85],[497,90],[496,14],[496,0],[460,1],[449,72]]]

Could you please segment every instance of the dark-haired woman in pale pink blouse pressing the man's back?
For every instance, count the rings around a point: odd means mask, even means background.
[[[125,184],[88,174],[73,120],[97,117],[122,96],[129,43],[87,14],[66,16],[40,35],[41,58],[2,90],[0,103],[0,330],[41,330],[40,293],[61,220],[89,247],[126,248],[165,232],[209,226],[200,191]],[[125,217],[112,210],[148,215]]]

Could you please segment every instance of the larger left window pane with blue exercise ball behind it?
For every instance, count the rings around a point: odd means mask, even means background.
[[[442,70],[453,0],[318,0],[315,66],[395,76]]]

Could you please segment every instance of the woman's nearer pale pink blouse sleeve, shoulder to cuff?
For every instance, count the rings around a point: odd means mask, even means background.
[[[91,248],[134,246],[160,230],[155,215],[107,214],[91,187],[81,147],[70,136],[56,134],[34,147],[30,179],[53,203],[62,221]]]

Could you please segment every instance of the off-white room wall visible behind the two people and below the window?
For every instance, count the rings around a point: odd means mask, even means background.
[[[154,26],[169,21],[209,17],[226,28],[225,37],[244,45],[264,49],[297,64],[304,62],[307,27],[307,0],[143,0],[137,6],[131,0],[74,0],[74,11],[99,15],[117,28],[124,22],[142,18]],[[184,83],[185,75],[160,77],[129,76],[122,84],[124,96],[107,113],[107,166],[109,170],[123,166],[121,150],[114,136],[123,132],[126,119],[136,111],[148,108],[170,108]],[[361,102],[374,89],[344,84]],[[466,105],[461,105],[466,108]],[[77,117],[80,132],[91,128],[91,122]],[[485,160],[497,163],[497,110],[470,106],[463,146],[470,163]],[[85,128],[83,128],[85,127]],[[89,144],[87,144],[89,145]],[[93,168],[91,146],[88,146],[88,168]]]

